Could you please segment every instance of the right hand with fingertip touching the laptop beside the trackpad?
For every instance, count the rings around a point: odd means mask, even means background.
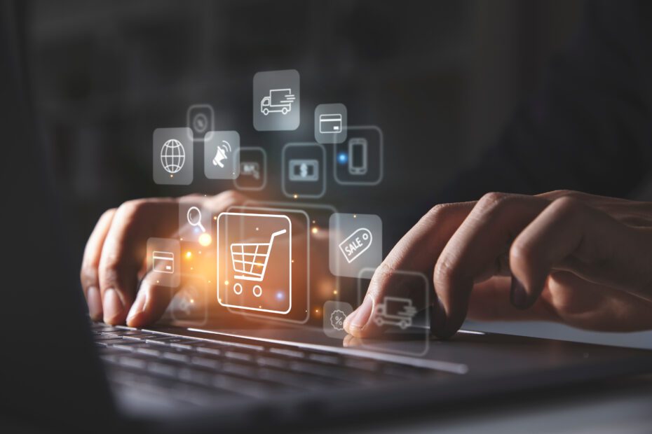
[[[467,315],[652,328],[652,204],[553,191],[437,205],[376,270],[344,322],[349,334],[379,335],[369,319],[394,286],[393,270],[433,276],[431,329],[442,338]]]

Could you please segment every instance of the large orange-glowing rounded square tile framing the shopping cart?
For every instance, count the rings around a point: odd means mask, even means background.
[[[281,214],[217,216],[217,301],[287,314],[292,309],[292,221]]]

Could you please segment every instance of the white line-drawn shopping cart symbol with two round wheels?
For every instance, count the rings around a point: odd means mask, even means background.
[[[274,244],[274,238],[287,232],[285,229],[274,232],[269,238],[269,243],[233,243],[231,244],[231,263],[233,264],[233,279],[262,282],[269,262],[269,254]],[[243,286],[240,283],[233,285],[233,292],[240,295]],[[263,288],[255,285],[253,293],[256,297],[263,294]]]

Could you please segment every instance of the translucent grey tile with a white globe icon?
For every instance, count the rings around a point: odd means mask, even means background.
[[[187,186],[193,181],[193,134],[190,128],[158,128],[152,144],[152,171],[157,184]]]

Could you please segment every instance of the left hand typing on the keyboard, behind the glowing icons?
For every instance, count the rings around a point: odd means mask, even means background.
[[[246,197],[226,191],[196,196],[215,214],[242,204]],[[144,269],[147,239],[172,237],[178,231],[179,200],[131,200],[109,209],[88,238],[81,265],[81,285],[90,317],[105,323],[139,327],[156,321],[170,303],[173,290],[161,290]],[[139,288],[140,282],[140,288]]]

